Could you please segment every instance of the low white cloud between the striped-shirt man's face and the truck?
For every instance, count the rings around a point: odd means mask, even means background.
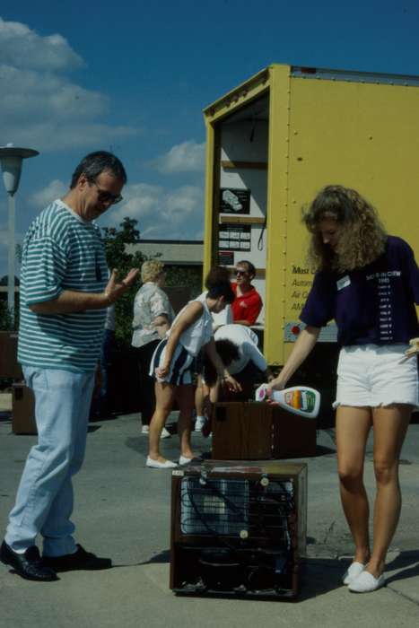
[[[127,185],[124,201],[111,209],[105,221],[118,225],[127,216],[138,221],[142,238],[201,239],[204,190],[197,186],[162,188],[145,183]]]

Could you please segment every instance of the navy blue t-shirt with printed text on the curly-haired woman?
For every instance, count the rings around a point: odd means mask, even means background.
[[[419,336],[419,269],[413,250],[388,236],[384,253],[368,266],[314,277],[301,320],[324,327],[333,318],[339,345],[408,343]]]

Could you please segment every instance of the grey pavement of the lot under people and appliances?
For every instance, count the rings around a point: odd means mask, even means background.
[[[176,419],[175,414],[170,421]],[[77,540],[110,556],[109,571],[78,571],[60,580],[22,580],[0,564],[1,628],[188,628],[189,626],[263,625],[368,626],[412,628],[419,621],[419,426],[411,425],[402,453],[400,481],[404,506],[388,553],[387,586],[351,594],[341,585],[352,544],[341,511],[333,430],[318,433],[318,455],[309,466],[308,552],[301,596],[293,603],[206,597],[179,597],[169,589],[170,471],[144,467],[147,437],[135,414],[91,423],[86,460],[75,477],[74,523]],[[22,472],[33,436],[14,436],[6,413],[0,414],[0,527]],[[194,434],[196,449],[209,452],[210,440]],[[175,436],[161,443],[176,459]],[[368,447],[365,478],[374,480]],[[0,535],[3,534],[0,533]]]

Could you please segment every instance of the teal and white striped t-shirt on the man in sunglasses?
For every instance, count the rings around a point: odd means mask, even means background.
[[[57,299],[65,290],[103,292],[107,283],[99,227],[84,222],[61,200],[48,205],[23,242],[19,362],[43,369],[94,371],[106,309],[36,314],[29,306]]]

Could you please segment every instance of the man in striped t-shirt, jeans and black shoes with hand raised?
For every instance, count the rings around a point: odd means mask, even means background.
[[[18,359],[34,392],[39,438],[26,460],[0,560],[28,580],[111,566],[75,544],[70,516],[106,309],[138,273],[133,269],[119,282],[113,271],[109,278],[93,222],[122,200],[126,181],[115,155],[90,153],[74,170],[68,193],[39,214],[23,243]]]

